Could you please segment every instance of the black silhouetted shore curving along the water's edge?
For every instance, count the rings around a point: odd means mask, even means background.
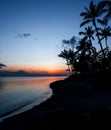
[[[104,82],[86,77],[71,76],[51,83],[50,99],[4,120],[0,130],[111,128],[111,83],[106,77]]]

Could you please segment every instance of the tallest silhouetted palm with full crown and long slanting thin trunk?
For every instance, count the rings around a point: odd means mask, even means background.
[[[105,57],[102,43],[99,37],[99,32],[98,32],[98,27],[97,27],[97,22],[105,25],[105,21],[99,19],[99,17],[102,16],[103,13],[106,12],[106,9],[104,8],[103,4],[99,2],[97,5],[93,3],[93,1],[90,2],[89,8],[85,7],[85,12],[82,12],[80,16],[83,16],[84,21],[83,23],[80,24],[80,27],[84,26],[85,24],[92,23],[93,26],[95,27],[95,31],[97,33],[97,38],[98,38],[98,43],[100,44],[100,48],[103,52],[103,56]]]

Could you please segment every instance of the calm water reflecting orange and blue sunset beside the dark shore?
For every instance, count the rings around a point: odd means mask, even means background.
[[[31,109],[52,95],[49,84],[65,77],[0,77],[0,121]]]

